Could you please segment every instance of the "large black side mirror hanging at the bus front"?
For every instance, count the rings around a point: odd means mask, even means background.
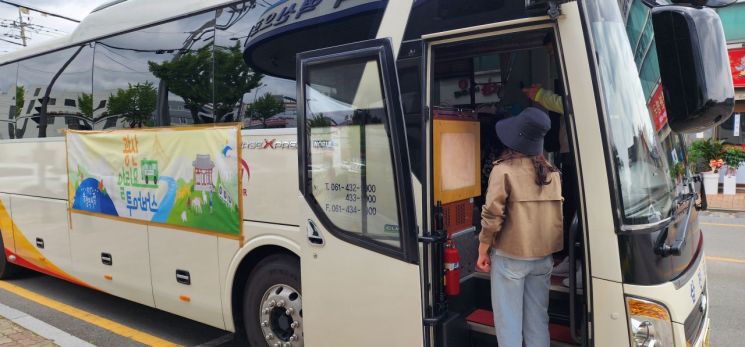
[[[700,132],[734,111],[734,87],[719,16],[709,8],[652,9],[660,76],[670,128]]]

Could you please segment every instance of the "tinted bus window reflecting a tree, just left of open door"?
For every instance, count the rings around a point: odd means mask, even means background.
[[[294,79],[260,73],[243,60],[247,36],[267,10],[253,1],[217,11],[215,37],[215,119],[244,128],[294,128]]]

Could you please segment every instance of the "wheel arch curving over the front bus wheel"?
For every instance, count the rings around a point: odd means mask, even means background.
[[[283,237],[264,236],[247,242],[238,250],[230,265],[223,296],[223,316],[227,330],[241,330],[243,317],[240,307],[246,280],[262,259],[275,254],[285,254],[299,260],[300,246]]]

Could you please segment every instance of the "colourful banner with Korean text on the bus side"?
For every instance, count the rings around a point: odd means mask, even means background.
[[[67,131],[71,212],[241,236],[240,127]]]

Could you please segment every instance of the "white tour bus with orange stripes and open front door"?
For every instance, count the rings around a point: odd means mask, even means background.
[[[577,190],[577,223],[571,228],[581,248],[572,261],[584,264],[576,279],[583,288],[574,280],[569,288],[552,282],[554,343],[642,346],[634,337],[651,335],[661,345],[708,345],[706,269],[693,202],[688,224],[673,222],[692,229],[683,255],[655,254],[649,244],[659,232],[634,233],[635,224],[628,221],[642,212],[626,215],[621,195],[628,193],[625,175],[636,175],[632,180],[640,184],[655,182],[646,180],[642,164],[614,167],[611,152],[624,136],[633,137],[628,143],[649,139],[647,150],[664,147],[664,158],[638,159],[638,153],[647,153],[638,145],[628,145],[626,154],[639,151],[633,155],[615,154],[627,158],[621,161],[659,165],[652,169],[668,175],[674,163],[667,163],[667,154],[681,148],[664,122],[649,137],[616,132],[626,123],[608,110],[628,100],[603,94],[609,86],[631,88],[634,96],[642,89],[627,55],[638,49],[603,47],[593,31],[593,21],[602,15],[591,12],[599,8],[603,15],[632,21],[638,18],[629,19],[635,15],[629,8],[642,6],[648,18],[642,1],[623,2],[625,13],[610,0],[561,1],[560,12],[552,16],[546,10],[554,1],[271,2],[117,1],[91,13],[67,37],[0,56],[0,105],[7,108],[0,110],[1,275],[17,266],[31,268],[220,329],[246,331],[257,346],[261,341],[268,346],[493,345],[494,329],[483,319],[490,310],[484,290],[488,275],[473,269],[478,218],[463,230],[447,230],[461,251],[462,292],[447,299],[442,292],[438,202],[445,195],[435,182],[472,177],[443,178],[444,171],[434,167],[442,155],[435,143],[445,136],[433,131],[440,119],[435,113],[455,112],[478,124],[476,113],[462,109],[507,110],[506,103],[517,108],[514,100],[523,83],[541,82],[564,90],[559,131],[566,132],[569,152],[554,149],[552,158],[557,163],[562,155],[574,158],[575,174],[568,179]],[[538,12],[531,12],[534,8]],[[624,22],[619,25],[624,28]],[[629,40],[625,29],[620,35]],[[242,70],[245,78],[258,81],[246,82],[249,88],[222,101],[229,91],[220,81],[231,77],[220,66],[228,60],[219,59],[231,57],[234,45],[250,67]],[[548,45],[553,55],[544,51]],[[198,56],[205,47],[214,59],[212,94],[193,106],[195,96],[184,96],[178,81],[154,77],[153,66]],[[614,61],[619,70],[634,69],[628,84],[608,83],[603,54],[609,49],[623,53]],[[45,66],[48,71],[37,71]],[[409,72],[413,75],[405,75]],[[82,79],[88,83],[82,91],[74,89],[75,74],[92,76]],[[528,76],[533,80],[520,80]],[[51,77],[57,85],[34,84]],[[69,210],[64,129],[137,127],[131,122],[138,115],[112,115],[111,106],[118,90],[135,85],[157,92],[157,103],[140,126],[244,125],[242,159],[249,172],[243,181],[241,237]],[[91,110],[75,97],[80,93],[91,95]],[[649,94],[638,95],[645,97],[642,103],[650,101]],[[56,106],[50,98],[58,99]],[[76,105],[60,107],[63,99]],[[274,113],[262,113],[267,108]],[[642,128],[653,124],[643,111],[637,124]],[[360,124],[362,130],[346,127]],[[481,133],[476,153],[486,153],[484,141],[493,135],[493,130]],[[479,168],[487,163],[480,157],[475,162]],[[470,184],[481,192],[481,174],[472,173],[476,179],[455,190]],[[456,181],[447,182],[461,184]],[[644,200],[655,198],[651,188],[644,192]],[[480,207],[480,195],[451,200],[465,203],[463,213],[470,214],[468,208]],[[668,195],[659,200],[672,199]],[[354,201],[340,203],[344,196]],[[658,208],[647,204],[644,211]],[[657,225],[654,213],[637,224]],[[671,232],[667,240],[673,238]],[[178,271],[190,276],[188,285],[179,283]],[[649,318],[649,310],[657,318]],[[655,327],[648,335],[639,326],[645,320]]]

